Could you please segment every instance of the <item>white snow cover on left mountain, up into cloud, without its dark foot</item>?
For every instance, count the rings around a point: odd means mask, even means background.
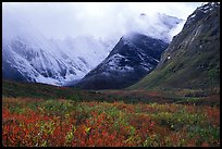
[[[13,17],[11,17],[12,20]],[[114,47],[91,36],[47,39],[18,20],[3,22],[2,59],[28,82],[62,86],[81,79]],[[30,25],[25,29],[25,26]],[[11,29],[14,32],[12,33]],[[7,67],[2,65],[2,70]]]

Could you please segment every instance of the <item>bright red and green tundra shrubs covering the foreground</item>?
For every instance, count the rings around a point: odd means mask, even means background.
[[[220,109],[174,103],[3,98],[2,144],[23,146],[220,146]]]

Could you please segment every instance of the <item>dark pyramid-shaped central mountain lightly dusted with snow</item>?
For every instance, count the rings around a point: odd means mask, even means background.
[[[110,54],[84,78],[77,87],[84,89],[118,89],[127,87],[151,72],[168,44],[130,33],[123,36]]]

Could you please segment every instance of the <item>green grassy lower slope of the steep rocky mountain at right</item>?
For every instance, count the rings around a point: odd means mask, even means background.
[[[172,58],[128,89],[162,90],[171,88],[209,89],[220,87],[219,55],[206,52],[195,57]],[[209,59],[215,59],[208,62]]]

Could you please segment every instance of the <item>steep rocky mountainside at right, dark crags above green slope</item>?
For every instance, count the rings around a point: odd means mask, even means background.
[[[192,13],[150,74],[130,89],[220,87],[220,3]]]

